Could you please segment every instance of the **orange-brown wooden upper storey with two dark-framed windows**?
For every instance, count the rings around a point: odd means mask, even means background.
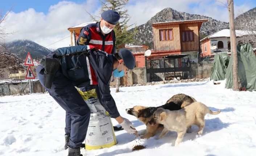
[[[207,21],[203,19],[153,23],[154,51],[190,54],[191,61],[198,62],[199,30],[202,23]]]

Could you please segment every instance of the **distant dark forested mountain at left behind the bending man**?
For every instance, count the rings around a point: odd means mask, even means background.
[[[7,52],[16,54],[18,57],[25,59],[28,52],[33,59],[41,59],[44,55],[48,55],[51,50],[38,45],[36,42],[29,40],[16,40],[6,44]]]

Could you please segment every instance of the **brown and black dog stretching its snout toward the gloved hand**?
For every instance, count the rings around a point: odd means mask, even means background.
[[[158,107],[145,107],[145,106],[134,106],[133,108],[125,109],[126,113],[135,116],[139,121],[146,125],[146,131],[141,136],[142,139],[149,139],[155,136],[157,132],[162,131],[164,126],[162,124],[149,125],[148,121],[153,117],[154,111],[158,108],[168,110],[179,110],[183,107],[195,102],[196,100],[186,94],[176,94],[172,96],[166,103]]]

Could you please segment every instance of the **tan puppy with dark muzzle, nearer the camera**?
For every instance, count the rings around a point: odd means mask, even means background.
[[[149,124],[155,125],[160,123],[164,125],[164,129],[158,139],[162,138],[168,131],[176,131],[178,137],[175,146],[178,146],[186,133],[187,127],[197,125],[199,127],[197,134],[201,135],[203,133],[205,115],[207,113],[216,115],[220,113],[220,110],[213,112],[201,102],[193,102],[181,110],[174,111],[158,108],[154,112],[153,118],[149,121]]]

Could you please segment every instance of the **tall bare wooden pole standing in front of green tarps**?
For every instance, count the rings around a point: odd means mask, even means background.
[[[230,28],[230,45],[231,55],[233,57],[233,90],[238,91],[238,56],[236,52],[236,29],[234,17],[234,0],[228,1],[229,28]]]

